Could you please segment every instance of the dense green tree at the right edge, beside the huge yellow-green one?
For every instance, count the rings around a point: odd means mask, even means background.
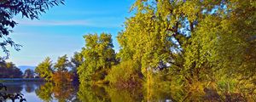
[[[256,24],[256,16],[253,3],[255,4],[253,1],[230,1],[224,3],[227,8],[218,8],[215,15],[207,15],[190,40],[198,46],[188,49],[185,66],[197,63],[196,67],[202,69],[201,72],[211,73],[208,77],[216,79],[214,82],[224,83],[226,88],[236,87],[236,91],[243,88],[245,90],[240,90],[241,92],[249,90],[246,93],[252,93],[255,90],[253,80],[256,79],[253,74],[256,72],[253,53],[256,48],[256,27],[253,26]],[[196,60],[193,57],[195,54]]]

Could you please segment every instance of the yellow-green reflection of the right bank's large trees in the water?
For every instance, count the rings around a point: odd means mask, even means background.
[[[139,102],[139,101],[246,101],[241,94],[218,94],[217,90],[189,91],[171,88],[111,88],[79,85],[78,98],[85,102]]]

